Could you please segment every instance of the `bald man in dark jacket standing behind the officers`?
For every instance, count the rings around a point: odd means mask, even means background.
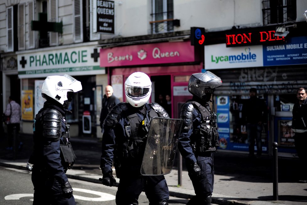
[[[102,99],[102,108],[99,119],[102,133],[104,132],[103,121],[105,120],[106,116],[110,113],[111,109],[120,102],[121,101],[113,95],[113,87],[110,85],[105,86],[105,95],[103,96]]]

